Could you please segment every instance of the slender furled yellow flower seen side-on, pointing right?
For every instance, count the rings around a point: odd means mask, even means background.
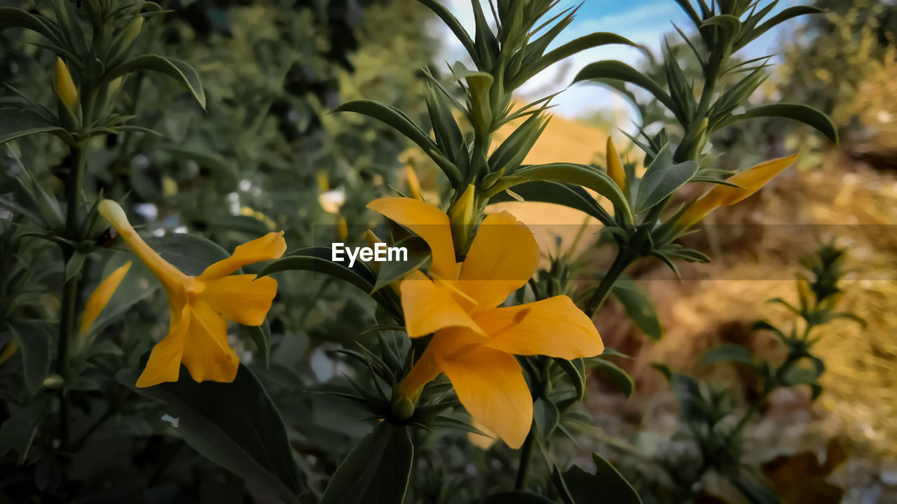
[[[766,161],[745,171],[740,171],[730,178],[727,182],[735,184],[738,187],[723,186],[717,184],[704,196],[701,196],[689,206],[685,212],[679,217],[676,224],[681,226],[691,226],[695,222],[701,221],[705,215],[719,206],[728,204],[736,204],[765,186],[773,177],[779,175],[783,169],[788,168],[797,161],[797,154],[790,155],[777,160]]]

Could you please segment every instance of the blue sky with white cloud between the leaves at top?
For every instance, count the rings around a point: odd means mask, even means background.
[[[470,1],[447,0],[446,4],[473,36],[474,17]],[[769,3],[767,0],[761,0],[761,2],[762,5]],[[482,0],[482,3],[487,18],[491,18],[488,2]],[[613,31],[633,42],[651,48],[655,54],[658,54],[665,34],[669,34],[671,42],[678,39],[671,22],[675,22],[686,33],[694,31],[692,22],[673,0],[585,0],[584,2],[582,0],[562,0],[555,9],[560,11],[580,3],[582,6],[579,8],[576,19],[558,39],[555,39],[549,50],[591,32]],[[789,6],[808,3],[806,0],[779,0],[770,16]],[[801,22],[801,19],[797,18],[797,20],[780,24],[777,29],[770,30],[760,39],[754,40],[750,46],[739,52],[738,56],[750,58],[779,52],[781,39],[787,37],[788,32],[794,30]],[[444,40],[442,57],[448,62],[464,59],[466,53],[451,32],[445,28],[441,30]],[[562,91],[579,70],[589,63],[603,59],[618,59],[638,67],[642,57],[637,49],[625,46],[588,49],[575,56],[570,56],[560,64],[547,68],[519,91],[525,98],[538,99],[552,92]],[[630,118],[635,117],[634,110],[630,109],[622,98],[597,84],[579,83],[570,86],[553,100],[553,104],[556,106],[554,112],[564,117],[588,117],[598,109],[612,109],[617,114]]]

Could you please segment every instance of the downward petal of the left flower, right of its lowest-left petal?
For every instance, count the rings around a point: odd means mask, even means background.
[[[239,357],[227,343],[227,321],[205,301],[197,302],[190,310],[181,357],[190,376],[196,381],[233,381]]]

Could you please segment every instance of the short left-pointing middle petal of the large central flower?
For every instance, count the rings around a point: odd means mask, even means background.
[[[478,334],[483,331],[467,315],[451,291],[433,283],[425,274],[415,271],[399,285],[405,328],[408,336],[417,338],[445,327],[464,326]]]

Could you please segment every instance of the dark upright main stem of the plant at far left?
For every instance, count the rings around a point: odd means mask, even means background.
[[[68,180],[65,187],[68,201],[65,211],[65,238],[80,242],[81,237],[81,210],[82,210],[82,186],[84,180],[84,157],[87,151],[85,143],[78,143],[71,149],[71,165],[69,167]],[[64,245],[62,248],[65,260],[65,270],[74,257],[75,248]],[[63,379],[63,386],[59,387],[59,446],[68,448],[68,410],[69,410],[69,348],[74,338],[75,308],[78,300],[78,284],[81,281],[80,274],[74,274],[65,281],[62,290],[62,310],[59,316],[59,341],[57,342],[57,373]]]

